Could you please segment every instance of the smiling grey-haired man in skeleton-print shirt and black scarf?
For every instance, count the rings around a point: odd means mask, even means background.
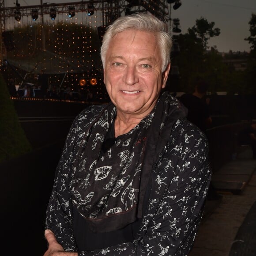
[[[162,92],[167,26],[117,19],[101,48],[111,102],[75,119],[46,212],[45,256],[188,255],[211,171],[207,139]]]

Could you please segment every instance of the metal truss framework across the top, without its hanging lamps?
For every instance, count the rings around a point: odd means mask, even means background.
[[[69,8],[75,8],[75,12],[88,11],[88,5],[93,4],[94,11],[102,11],[105,16],[105,23],[111,23],[121,15],[128,15],[136,12],[150,12],[159,19],[169,21],[169,9],[165,0],[87,0],[62,4],[41,4],[31,6],[15,6],[4,8],[2,4],[4,0],[0,0],[0,20],[9,17],[15,17],[19,12],[20,16],[30,16],[33,10],[38,10],[39,15],[49,15],[51,9],[56,10],[56,14],[68,13]],[[2,25],[4,31],[4,24]]]

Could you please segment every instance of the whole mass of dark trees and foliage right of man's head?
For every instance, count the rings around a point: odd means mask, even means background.
[[[255,44],[256,15],[252,15],[250,25],[250,42]],[[232,60],[241,59],[242,56],[230,53],[224,58],[216,48],[207,50],[208,40],[220,34],[220,30],[214,26],[214,22],[209,23],[201,18],[196,20],[195,26],[188,29],[188,33],[173,36],[174,43],[177,42],[180,46],[180,52],[173,53],[172,65],[179,67],[180,77],[178,86],[173,86],[171,82],[171,90],[192,92],[196,77],[201,77],[209,83],[211,93],[227,91],[228,94],[256,94],[256,50],[250,53],[247,70],[236,70]]]

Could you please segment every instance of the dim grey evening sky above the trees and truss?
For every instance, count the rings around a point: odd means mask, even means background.
[[[18,0],[21,6],[39,5],[40,0]],[[43,3],[60,4],[79,0],[48,0]],[[14,7],[16,0],[5,0],[5,7]],[[173,4],[172,4],[173,6]],[[180,19],[181,33],[196,24],[201,17],[215,22],[220,35],[211,38],[208,46],[216,46],[219,52],[249,51],[250,45],[244,39],[250,35],[249,24],[252,13],[256,14],[256,0],[181,0],[181,7],[171,8],[171,18]]]

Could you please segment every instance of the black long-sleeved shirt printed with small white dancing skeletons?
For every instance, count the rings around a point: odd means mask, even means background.
[[[162,113],[169,113],[166,120],[173,124],[168,132],[160,122],[160,130],[165,132],[147,144],[146,164],[147,161],[153,163],[149,165],[152,166],[147,182],[149,193],[144,198],[146,203],[143,204],[142,222],[136,239],[92,251],[79,251],[74,238],[74,172],[70,170],[74,169],[75,156],[84,143],[85,131],[105,106],[90,106],[76,117],[56,169],[46,211],[46,228],[53,231],[67,252],[78,252],[79,256],[186,256],[191,251],[211,179],[208,142],[205,135],[184,117],[184,113],[181,114],[181,103],[170,95],[166,98],[169,108],[168,111],[163,109]]]

